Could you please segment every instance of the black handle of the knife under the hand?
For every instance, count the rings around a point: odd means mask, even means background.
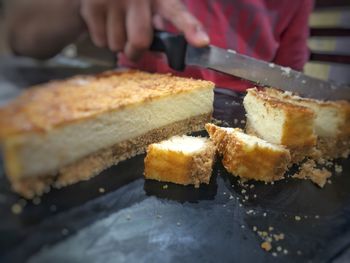
[[[165,53],[169,66],[177,71],[183,71],[185,69],[186,48],[187,42],[183,35],[155,31],[150,49]]]

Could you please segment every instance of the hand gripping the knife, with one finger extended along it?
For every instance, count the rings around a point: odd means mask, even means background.
[[[193,46],[209,44],[201,23],[180,0],[80,0],[81,15],[95,45],[137,60],[152,43],[154,24],[164,19]]]

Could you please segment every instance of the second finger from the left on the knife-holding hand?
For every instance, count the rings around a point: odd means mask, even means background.
[[[124,50],[126,42],[125,15],[121,7],[112,5],[107,15],[107,40],[112,51]]]

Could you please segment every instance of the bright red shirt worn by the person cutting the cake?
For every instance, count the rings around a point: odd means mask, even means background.
[[[308,60],[308,18],[313,0],[184,0],[207,30],[212,45],[302,70]],[[168,25],[167,30],[176,32]],[[170,69],[164,56],[147,52],[138,63],[123,56],[120,64],[150,72],[172,72],[213,81],[216,86],[244,91],[252,84],[215,71]]]

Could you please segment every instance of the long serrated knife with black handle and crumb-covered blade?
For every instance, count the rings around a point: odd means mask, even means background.
[[[288,67],[258,60],[234,50],[209,45],[196,48],[183,35],[155,31],[151,51],[164,52],[169,66],[183,71],[186,66],[199,66],[233,75],[308,98],[322,100],[350,100],[350,87],[307,76]]]

